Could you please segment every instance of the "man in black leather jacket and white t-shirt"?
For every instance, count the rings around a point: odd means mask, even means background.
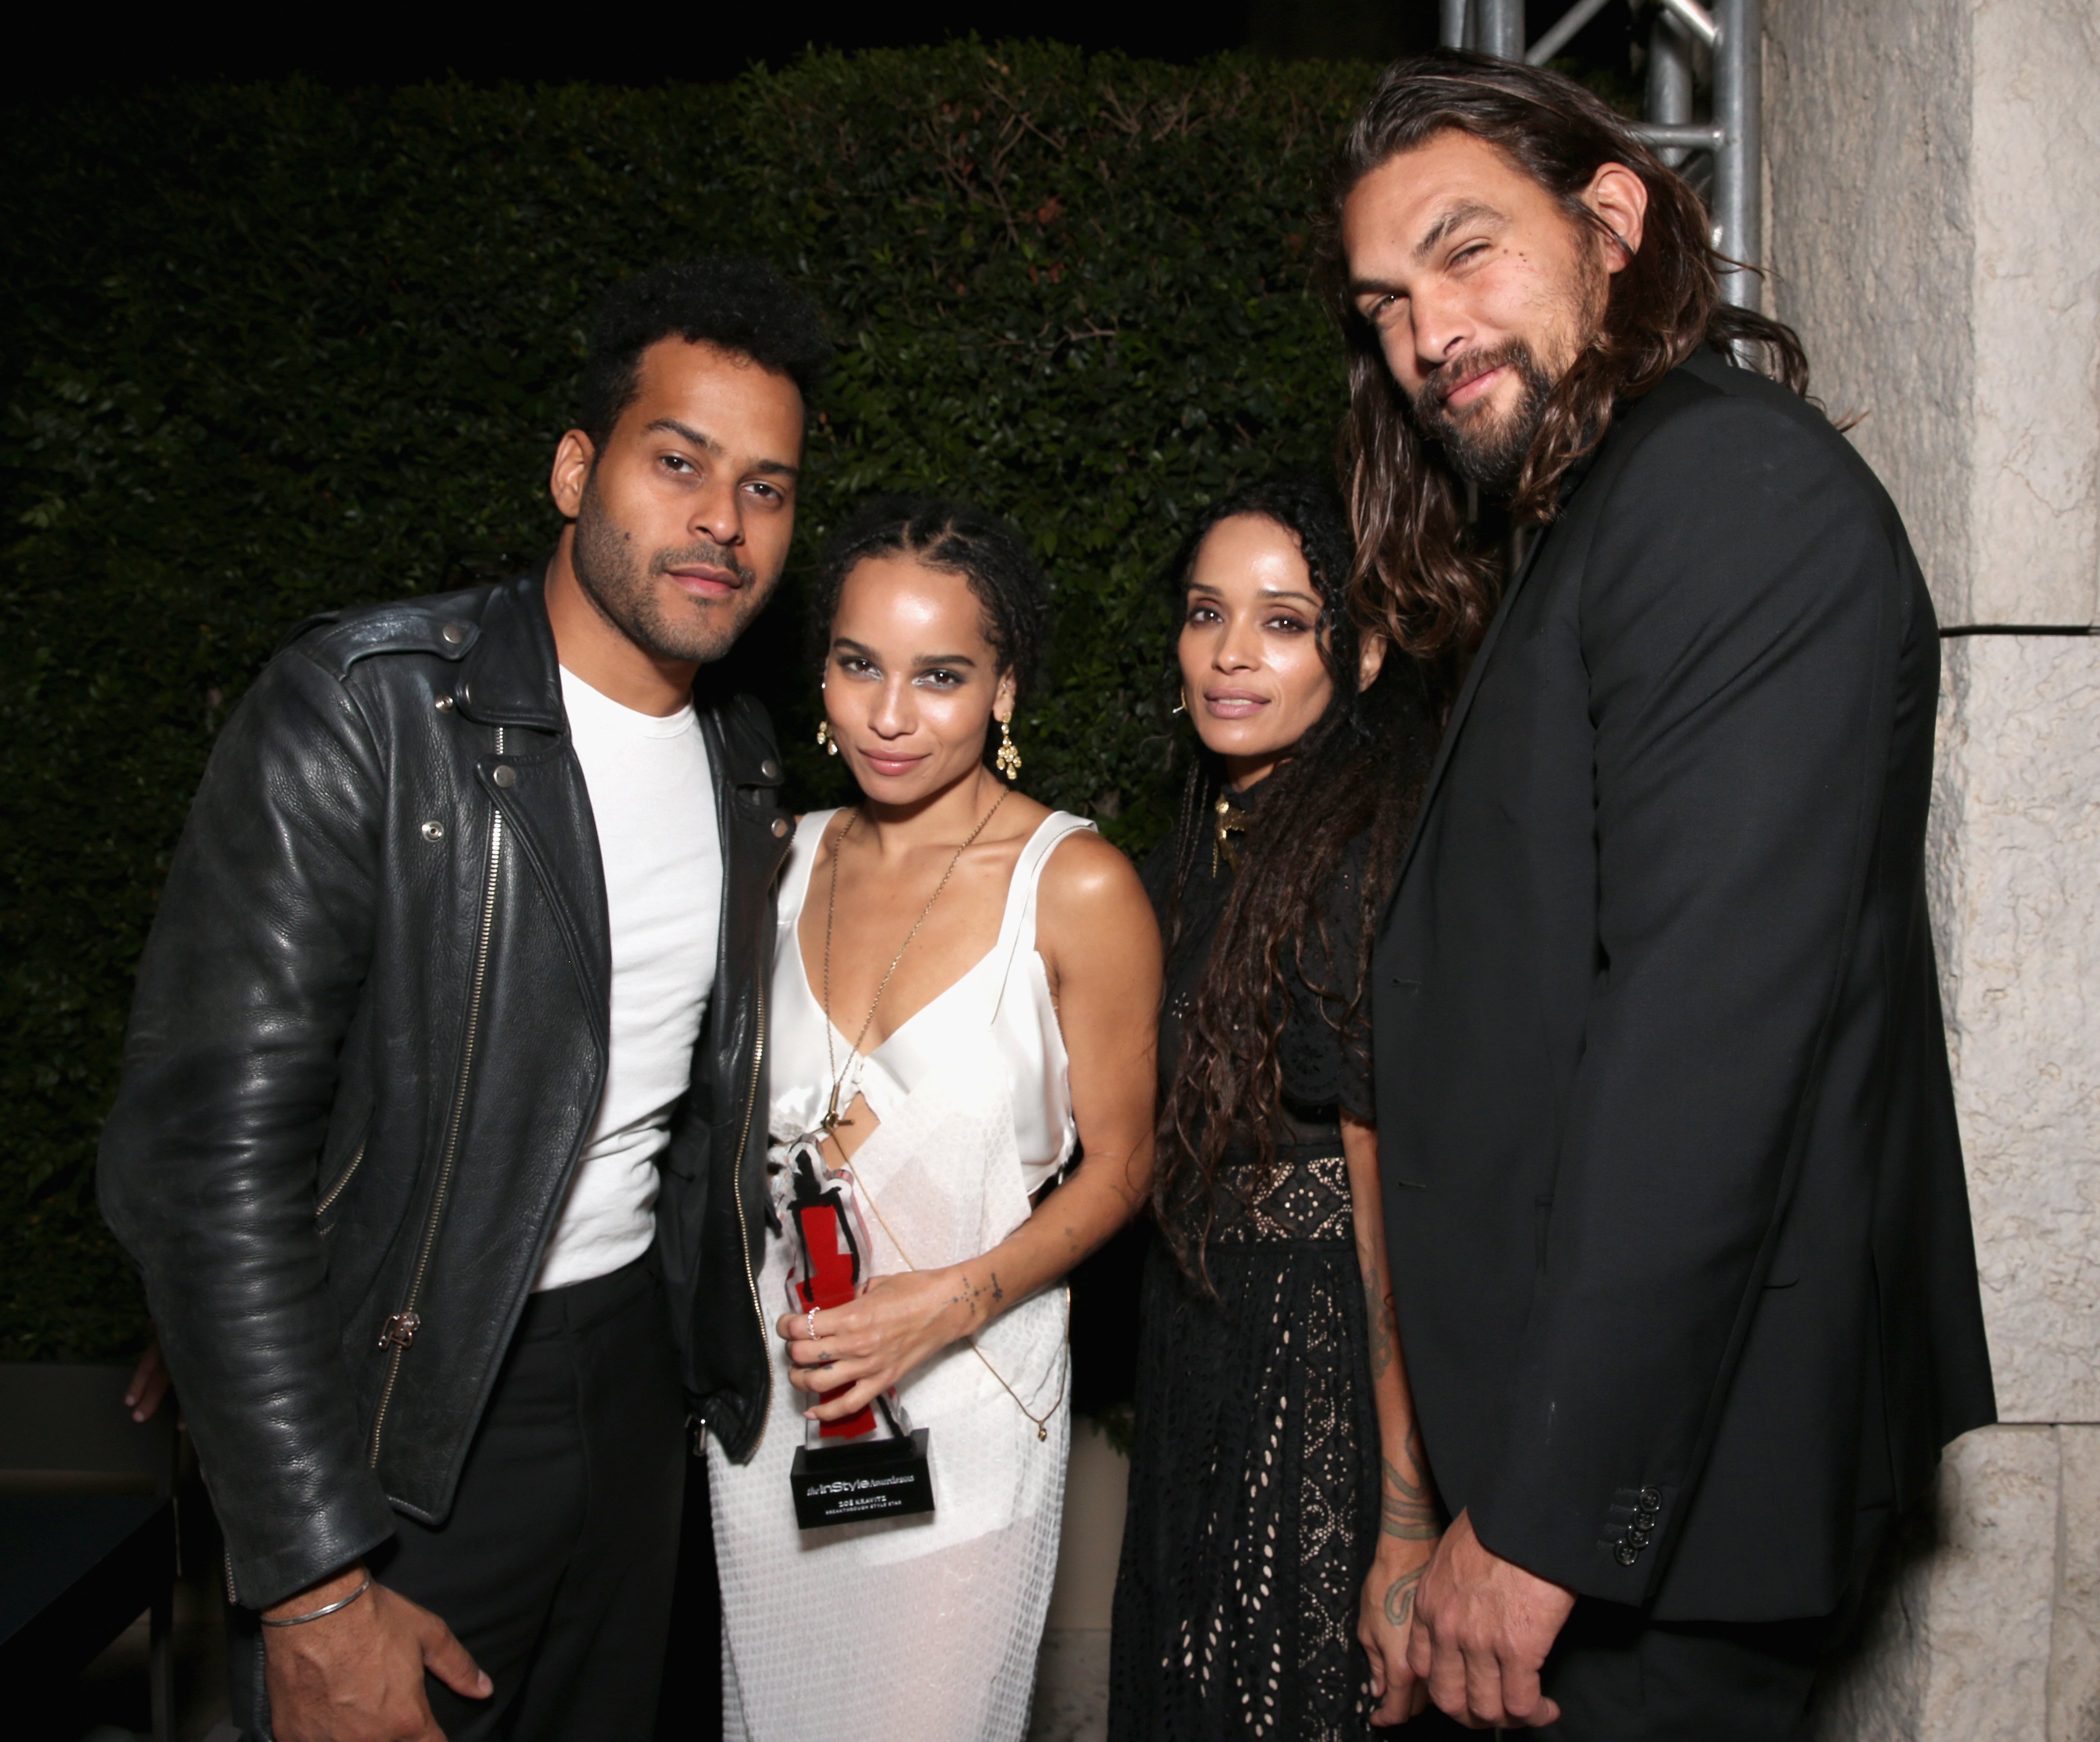
[[[766,1410],[794,831],[764,711],[695,676],[779,579],[825,355],[756,262],[617,288],[552,558],[300,625],[212,751],[101,1198],[258,1738],[651,1729],[687,1415],[741,1457]]]

